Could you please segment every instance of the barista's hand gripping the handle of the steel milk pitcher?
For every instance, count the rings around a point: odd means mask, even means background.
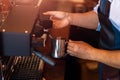
[[[67,53],[81,59],[92,60],[95,48],[83,41],[69,41]]]

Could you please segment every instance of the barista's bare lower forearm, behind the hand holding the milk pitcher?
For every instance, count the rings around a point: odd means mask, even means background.
[[[108,51],[96,49],[93,60],[120,69],[120,50]]]

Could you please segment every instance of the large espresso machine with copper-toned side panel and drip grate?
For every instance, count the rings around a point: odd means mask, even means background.
[[[36,48],[45,47],[52,21],[39,18],[42,0],[12,1],[0,26],[0,79],[42,80],[44,62],[55,63]]]

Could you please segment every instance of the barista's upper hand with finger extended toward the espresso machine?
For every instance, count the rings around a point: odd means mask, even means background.
[[[50,15],[50,20],[53,21],[54,28],[63,28],[69,25],[70,17],[69,13],[62,11],[48,11],[43,13],[44,15]]]

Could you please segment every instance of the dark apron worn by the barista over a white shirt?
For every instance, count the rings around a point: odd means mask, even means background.
[[[108,0],[100,0],[98,16],[101,25],[100,48],[106,50],[120,50],[120,31],[109,20],[111,3]],[[100,65],[100,80],[119,80],[119,70],[105,64]]]

